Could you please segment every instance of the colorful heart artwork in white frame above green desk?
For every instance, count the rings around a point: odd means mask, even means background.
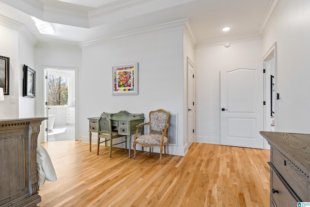
[[[138,63],[112,67],[112,95],[138,95]]]

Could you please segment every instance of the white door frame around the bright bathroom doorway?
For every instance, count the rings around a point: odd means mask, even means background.
[[[46,109],[46,105],[45,102],[46,100],[46,92],[47,92],[47,84],[46,84],[46,71],[47,69],[55,69],[55,70],[74,70],[75,71],[75,140],[81,140],[81,137],[78,136],[78,100],[79,100],[79,96],[78,96],[78,67],[66,67],[66,66],[52,66],[52,65],[41,65],[41,70],[44,71],[43,72],[43,85],[44,85],[44,92],[43,92],[43,96],[41,98],[41,103],[42,105],[44,105],[43,107],[43,114],[45,114],[45,116],[47,117],[47,109]],[[44,130],[47,128],[48,126],[48,120],[44,121]],[[47,134],[48,131],[45,130],[44,133],[44,142],[47,142]]]

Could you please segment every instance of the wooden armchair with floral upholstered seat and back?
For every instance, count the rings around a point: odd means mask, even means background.
[[[169,127],[169,112],[159,109],[156,111],[150,111],[149,114],[150,121],[147,123],[141,123],[137,125],[137,131],[134,137],[134,156],[136,157],[136,144],[140,144],[142,147],[158,146],[160,148],[160,164],[162,164],[162,149],[164,146],[165,156],[166,156],[166,145],[168,144],[168,138],[166,137],[167,128]],[[138,136],[139,127],[145,125],[150,126],[150,134],[141,134]]]

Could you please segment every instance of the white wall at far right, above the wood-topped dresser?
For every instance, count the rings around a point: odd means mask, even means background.
[[[263,55],[277,42],[277,131],[310,133],[309,11],[309,0],[284,1],[263,38]]]

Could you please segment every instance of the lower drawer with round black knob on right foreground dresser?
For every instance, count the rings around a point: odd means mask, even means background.
[[[291,192],[285,187],[281,179],[271,170],[272,183],[270,183],[271,200],[276,207],[295,207],[297,202]],[[272,206],[272,205],[271,205]]]

